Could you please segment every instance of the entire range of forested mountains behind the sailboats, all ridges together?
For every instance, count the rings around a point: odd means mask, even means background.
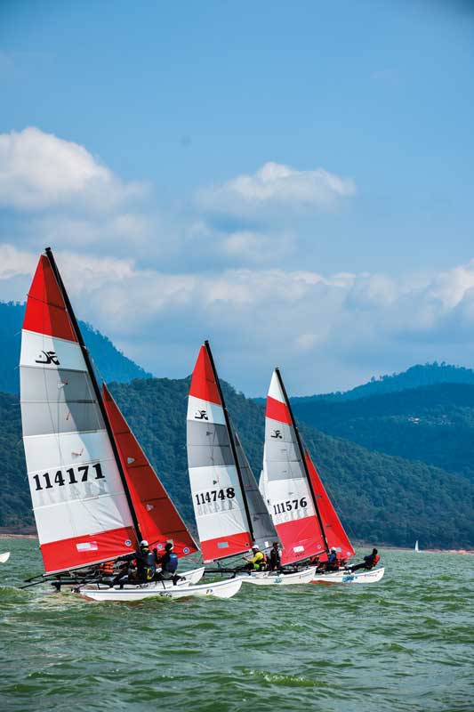
[[[2,373],[2,387],[9,392],[0,393],[0,528],[19,530],[34,523],[15,394],[20,338],[12,334],[20,329],[22,310],[19,304],[0,304],[4,351],[10,339]],[[118,405],[194,528],[186,457],[189,378],[149,377],[107,337],[87,325],[81,328],[101,374],[113,381]],[[474,547],[472,376],[470,369],[430,364],[371,381],[350,396],[292,399],[301,434],[351,538],[379,545],[413,546],[420,539],[423,547]],[[264,405],[229,384],[223,390],[258,475]]]

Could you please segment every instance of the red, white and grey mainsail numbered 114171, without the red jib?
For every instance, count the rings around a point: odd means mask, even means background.
[[[124,484],[76,330],[47,256],[21,336],[23,442],[46,572],[105,561],[137,545]]]

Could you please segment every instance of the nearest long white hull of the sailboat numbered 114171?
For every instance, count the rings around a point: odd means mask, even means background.
[[[163,587],[161,581],[124,588],[82,587],[77,593],[93,601],[143,601],[146,598],[189,598],[190,596],[213,596],[231,598],[242,586],[241,578],[228,578],[212,584],[192,586],[184,581],[178,586]]]

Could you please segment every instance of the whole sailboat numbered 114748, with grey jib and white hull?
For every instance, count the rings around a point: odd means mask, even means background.
[[[189,481],[205,563],[246,554],[253,544],[268,549],[279,541],[277,530],[230,422],[207,341],[192,373],[187,420]],[[303,583],[314,571],[241,573],[245,582],[266,586]]]

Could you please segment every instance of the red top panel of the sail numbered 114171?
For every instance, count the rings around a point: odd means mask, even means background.
[[[45,255],[39,258],[28,292],[23,328],[37,334],[77,341],[60,287]]]

